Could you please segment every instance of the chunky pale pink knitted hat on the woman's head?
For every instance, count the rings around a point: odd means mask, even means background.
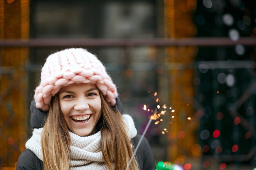
[[[46,60],[35,90],[36,107],[49,110],[52,96],[73,83],[96,84],[111,106],[116,103],[117,88],[97,57],[85,49],[65,49]]]

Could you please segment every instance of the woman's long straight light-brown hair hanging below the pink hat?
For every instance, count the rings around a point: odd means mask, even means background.
[[[101,130],[103,159],[110,170],[125,170],[132,157],[126,125],[116,107],[111,107],[100,92],[102,115],[97,123]],[[70,170],[70,134],[61,113],[58,93],[52,97],[41,138],[44,170]],[[124,149],[126,148],[126,149]],[[112,166],[112,155],[115,167]],[[133,159],[129,170],[138,170]]]

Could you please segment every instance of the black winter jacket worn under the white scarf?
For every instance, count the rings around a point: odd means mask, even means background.
[[[117,97],[117,108],[121,113],[123,113],[122,103]],[[30,124],[33,128],[40,128],[44,126],[44,120],[47,115],[46,112],[42,112],[35,106],[35,101],[33,100],[30,105],[31,117]],[[137,135],[132,138],[132,143],[134,148],[136,148],[141,135]],[[141,144],[136,152],[136,159],[139,164],[140,170],[155,170],[155,160],[153,157],[153,152],[147,139],[144,137]],[[17,170],[43,170],[43,161],[41,161],[31,150],[27,149],[21,153],[18,162]]]

